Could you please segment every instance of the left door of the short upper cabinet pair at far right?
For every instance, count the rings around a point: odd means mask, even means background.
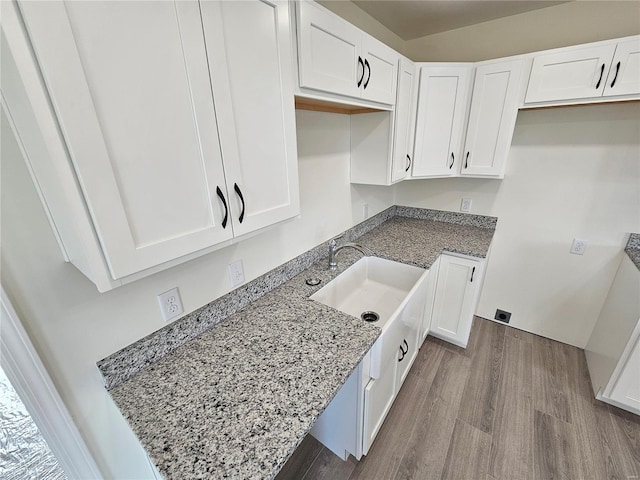
[[[604,45],[535,57],[525,102],[600,97],[614,50]]]

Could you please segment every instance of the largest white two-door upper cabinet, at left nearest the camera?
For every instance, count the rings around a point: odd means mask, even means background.
[[[19,5],[97,239],[58,230],[100,291],[298,214],[286,2]],[[32,167],[45,204],[69,183]]]

